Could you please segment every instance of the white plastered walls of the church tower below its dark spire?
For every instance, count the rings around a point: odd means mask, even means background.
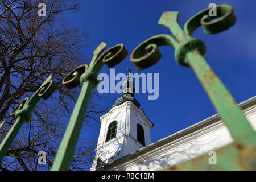
[[[109,163],[142,148],[142,144],[137,142],[137,123],[143,126],[145,143],[150,144],[151,135],[148,127],[150,121],[143,114],[143,111],[138,109],[133,102],[127,101],[119,106],[112,107],[108,113],[102,115],[100,117],[101,129],[97,143],[96,158]],[[108,126],[113,121],[117,121],[117,134],[115,138],[106,142]]]

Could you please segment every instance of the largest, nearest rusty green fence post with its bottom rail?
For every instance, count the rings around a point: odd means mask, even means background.
[[[177,63],[193,69],[234,139],[232,144],[217,150],[218,165],[211,166],[208,164],[209,156],[203,155],[169,169],[256,169],[256,133],[237,106],[232,94],[204,60],[204,43],[192,37],[193,32],[200,26],[203,26],[205,34],[216,34],[232,27],[236,22],[232,6],[216,6],[217,17],[208,15],[210,9],[192,16],[185,23],[184,30],[177,22],[179,12],[164,12],[158,23],[170,29],[174,37],[167,34],[152,36],[134,49],[130,59],[137,69],[145,69],[160,60],[158,46],[174,47]],[[217,19],[211,20],[213,18]]]

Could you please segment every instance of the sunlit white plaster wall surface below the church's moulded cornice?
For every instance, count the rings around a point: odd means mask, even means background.
[[[207,134],[204,134],[207,133]],[[134,164],[123,166],[121,170],[159,170],[195,158],[210,150],[216,150],[233,142],[226,127],[214,131],[192,134],[191,137],[175,140],[147,155],[139,156]]]

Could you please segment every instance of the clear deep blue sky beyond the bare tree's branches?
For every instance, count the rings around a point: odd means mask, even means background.
[[[174,59],[174,48],[160,47],[162,58],[154,66],[137,71],[130,61],[130,54],[141,42],[157,34],[171,34],[158,24],[163,11],[180,11],[179,23],[184,23],[209,3],[228,3],[234,7],[237,22],[229,30],[214,35],[205,35],[203,28],[193,34],[207,46],[205,60],[233,94],[236,101],[242,102],[256,95],[256,23],[255,1],[79,1],[81,9],[67,14],[71,26],[87,27],[88,43],[84,52],[91,59],[94,49],[102,41],[110,48],[118,43],[125,44],[129,55],[115,66],[115,74],[159,73],[159,98],[148,100],[148,94],[135,94],[141,109],[154,123],[151,140],[156,142],[185,127],[216,114],[207,94],[191,68],[182,67]],[[100,73],[110,75],[110,68],[104,66]],[[117,81],[118,82],[118,81]],[[116,83],[117,83],[116,82]],[[102,94],[96,110],[109,110],[121,94]],[[81,138],[98,139],[100,123],[82,129]]]

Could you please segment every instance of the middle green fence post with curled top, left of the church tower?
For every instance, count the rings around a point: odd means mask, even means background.
[[[108,67],[113,67],[127,56],[128,52],[123,44],[117,44],[102,53],[105,47],[106,44],[102,42],[93,52],[94,56],[89,66],[86,64],[81,65],[63,79],[63,84],[67,86],[68,89],[75,88],[79,84],[82,84],[82,89],[73,109],[67,130],[61,141],[59,151],[55,157],[51,168],[52,171],[68,170],[69,168],[79,138],[82,122],[84,121],[87,105],[92,94],[91,90],[95,88],[98,83],[98,72],[104,64],[108,65]]]

